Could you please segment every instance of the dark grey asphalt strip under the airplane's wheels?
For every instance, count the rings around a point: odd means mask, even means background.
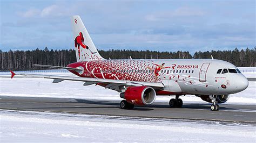
[[[211,111],[210,103],[184,103],[183,108],[169,108],[169,103],[166,101],[150,106],[136,106],[133,110],[123,110],[120,109],[118,101],[9,96],[0,96],[0,98],[0,109],[256,123],[256,105],[220,104],[219,111]]]

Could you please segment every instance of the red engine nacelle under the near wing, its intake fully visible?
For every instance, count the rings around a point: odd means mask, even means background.
[[[120,94],[121,98],[136,105],[149,105],[156,100],[156,91],[151,87],[129,87]]]

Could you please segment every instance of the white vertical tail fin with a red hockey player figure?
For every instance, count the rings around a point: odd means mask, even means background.
[[[71,19],[74,46],[76,49],[77,61],[101,60],[89,33],[87,32],[82,19],[79,16],[72,16]]]

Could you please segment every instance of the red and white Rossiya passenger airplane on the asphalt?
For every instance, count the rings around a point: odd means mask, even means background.
[[[67,69],[77,76],[17,74],[96,84],[120,92],[120,108],[133,109],[134,105],[150,105],[156,96],[175,96],[170,108],[181,108],[180,96],[194,95],[212,103],[225,103],[231,94],[248,87],[247,78],[229,62],[213,59],[104,59],[97,51],[82,19],[71,18],[77,62],[66,67],[33,65],[46,68]],[[11,71],[11,78],[15,73]],[[97,91],[96,91],[97,92]]]

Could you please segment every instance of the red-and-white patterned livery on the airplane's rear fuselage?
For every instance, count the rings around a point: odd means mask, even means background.
[[[132,66],[131,66],[132,65]],[[81,77],[105,78],[112,80],[129,80],[143,82],[160,82],[152,70],[147,67],[153,61],[144,60],[94,60],[85,62],[71,63],[68,67],[83,67],[84,73],[70,70],[71,73]],[[89,76],[88,76],[89,75]]]

